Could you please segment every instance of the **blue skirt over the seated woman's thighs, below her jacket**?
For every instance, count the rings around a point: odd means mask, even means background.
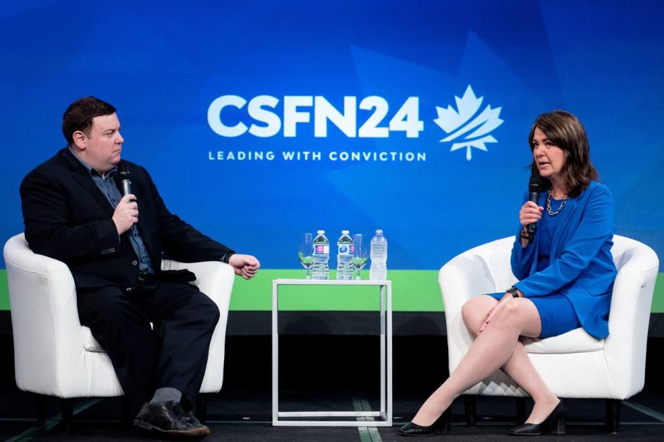
[[[500,300],[505,292],[487,294],[492,298]],[[559,294],[547,295],[537,298],[528,298],[533,301],[542,321],[542,333],[540,338],[549,338],[567,333],[570,330],[581,327],[576,317],[574,308],[569,299]]]

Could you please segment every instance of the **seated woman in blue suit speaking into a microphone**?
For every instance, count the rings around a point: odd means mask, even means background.
[[[519,211],[521,227],[511,258],[519,282],[463,305],[463,321],[476,336],[474,343],[400,434],[445,431],[454,398],[497,369],[535,401],[526,423],[510,434],[540,434],[550,424],[554,432],[564,433],[562,401],[542,381],[524,342],[578,327],[596,338],[609,334],[617,273],[611,257],[614,203],[609,189],[597,182],[586,131],[571,113],[553,111],[537,117],[528,142],[532,172],[541,175],[543,191],[539,204],[526,200]],[[526,226],[534,222],[537,234],[531,238]]]

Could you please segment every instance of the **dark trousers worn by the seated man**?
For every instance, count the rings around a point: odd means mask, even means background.
[[[156,388],[176,388],[195,400],[219,321],[214,301],[186,283],[157,280],[140,282],[131,294],[120,287],[78,289],[77,300],[81,324],[111,358],[131,416]]]

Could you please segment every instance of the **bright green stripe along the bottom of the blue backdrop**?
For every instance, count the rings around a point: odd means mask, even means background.
[[[334,278],[334,271],[331,271]],[[394,311],[443,311],[441,291],[436,270],[389,270],[392,281],[392,309]],[[250,281],[235,278],[230,309],[270,311],[272,309],[272,280],[304,278],[302,270],[261,269]],[[362,279],[369,271],[362,271]],[[374,294],[374,296],[371,296]],[[280,310],[375,311],[378,310],[376,287],[282,287],[279,289]],[[0,269],[0,310],[9,310],[7,271]],[[664,313],[664,273],[659,273],[652,300],[653,313]]]

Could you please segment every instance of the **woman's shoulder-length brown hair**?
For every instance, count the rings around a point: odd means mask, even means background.
[[[586,130],[575,115],[565,111],[543,113],[535,120],[528,144],[533,150],[535,128],[540,128],[544,135],[556,146],[565,151],[566,161],[562,171],[567,185],[567,192],[572,198],[580,195],[591,181],[598,180],[598,173],[590,161],[590,145]],[[537,172],[537,162],[533,158],[531,171]],[[551,182],[542,177],[542,189],[551,188]]]

